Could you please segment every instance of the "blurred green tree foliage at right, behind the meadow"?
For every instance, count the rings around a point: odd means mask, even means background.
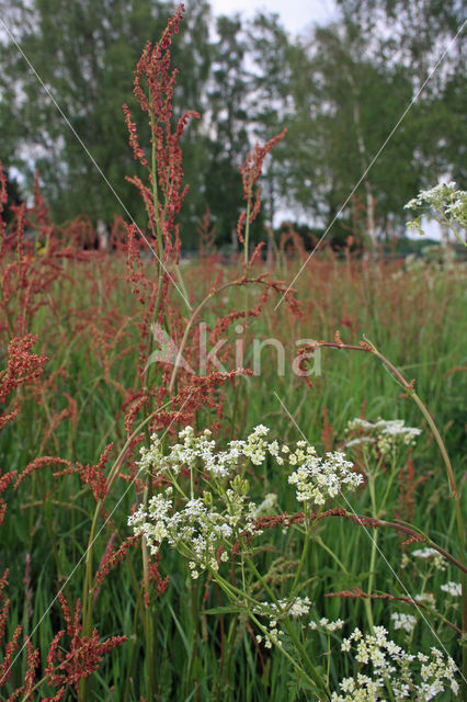
[[[318,27],[303,53],[296,48],[292,93],[297,118],[289,134],[295,168],[287,186],[328,227],[361,181],[334,229],[344,224],[352,233],[360,228],[376,237],[402,224],[403,204],[423,184],[460,173],[465,80],[455,61],[447,66],[444,79],[436,76],[438,84],[421,93],[391,135],[425,75],[421,80],[413,67],[407,68],[408,38],[399,44],[395,32],[387,39],[375,8],[375,14],[358,14],[363,4],[350,2],[341,21]],[[434,48],[428,39],[424,46]]]

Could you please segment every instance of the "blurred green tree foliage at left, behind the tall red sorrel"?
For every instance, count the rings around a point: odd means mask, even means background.
[[[203,92],[200,81],[208,75],[206,24],[202,22],[207,5],[202,1],[193,5],[186,24],[196,45],[187,48],[185,27],[178,46],[184,68],[180,79],[180,90],[185,93],[182,103]],[[1,59],[0,151],[23,173],[39,167],[57,218],[83,211],[94,220],[112,220],[115,213],[123,214],[77,134],[129,214],[144,224],[139,197],[125,181],[137,167],[128,148],[122,104],[135,107],[132,90],[136,63],[146,41],[160,35],[172,10],[167,2],[153,0],[13,0],[4,8],[2,16],[12,35],[72,128],[10,42]],[[136,117],[138,111],[134,113]],[[148,137],[146,125],[140,128]],[[147,143],[141,136],[141,144]],[[9,145],[14,145],[14,151]],[[29,176],[31,179],[31,172]]]

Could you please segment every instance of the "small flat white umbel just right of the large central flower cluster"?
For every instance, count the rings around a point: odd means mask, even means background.
[[[406,427],[403,419],[378,419],[375,422],[366,419],[353,419],[348,423],[346,432],[358,435],[346,442],[345,446],[372,444],[383,455],[394,453],[399,446],[412,446],[422,433],[417,427]]]

